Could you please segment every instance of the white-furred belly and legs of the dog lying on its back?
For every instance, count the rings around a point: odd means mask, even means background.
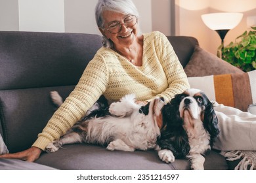
[[[148,115],[139,112],[140,105],[135,103],[135,95],[126,95],[119,102],[112,103],[109,111],[114,116],[93,118],[82,122],[86,133],[75,133],[70,129],[58,141],[47,145],[47,152],[58,150],[63,144],[87,142],[108,144],[108,150],[134,151],[148,150],[156,147],[160,129],[154,120],[164,103],[154,99],[150,103]],[[116,116],[116,117],[115,117]]]

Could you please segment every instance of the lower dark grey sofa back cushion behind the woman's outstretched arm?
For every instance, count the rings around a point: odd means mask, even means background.
[[[32,146],[56,107],[49,93],[56,90],[66,98],[74,86],[0,90],[0,122],[9,152]]]

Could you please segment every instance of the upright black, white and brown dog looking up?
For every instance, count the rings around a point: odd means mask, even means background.
[[[190,159],[191,169],[204,169],[204,154],[219,134],[213,104],[197,89],[175,95],[161,110],[163,124],[158,155],[166,163]]]

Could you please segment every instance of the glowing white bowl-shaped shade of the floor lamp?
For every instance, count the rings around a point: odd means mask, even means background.
[[[236,12],[219,12],[202,14],[202,20],[212,30],[234,29],[242,20],[243,14]]]

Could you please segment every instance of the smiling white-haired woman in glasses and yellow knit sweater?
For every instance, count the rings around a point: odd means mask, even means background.
[[[56,110],[31,148],[2,158],[35,161],[49,142],[84,116],[104,95],[109,103],[135,93],[139,101],[169,101],[190,86],[168,39],[160,32],[141,34],[139,13],[131,0],[99,0],[96,23],[102,48],[87,65],[74,91]]]

